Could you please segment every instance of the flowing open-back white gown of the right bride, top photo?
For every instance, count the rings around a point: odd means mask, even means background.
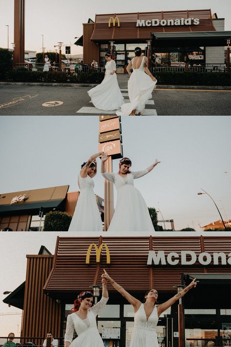
[[[145,58],[146,57],[144,56],[139,68],[133,68],[133,72],[131,73],[127,84],[130,103],[121,106],[121,110],[116,112],[118,116],[129,116],[133,109],[136,110],[135,114],[138,114],[139,112],[143,114],[147,100],[152,98],[151,93],[157,81],[152,81],[145,72]],[[132,62],[133,60],[131,61],[131,64]]]

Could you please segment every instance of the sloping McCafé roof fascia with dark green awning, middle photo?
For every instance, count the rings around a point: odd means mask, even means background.
[[[0,195],[0,215],[26,211],[38,213],[40,207],[45,212],[52,208],[60,208],[66,198],[69,185],[25,190]],[[63,206],[63,208],[65,208]]]

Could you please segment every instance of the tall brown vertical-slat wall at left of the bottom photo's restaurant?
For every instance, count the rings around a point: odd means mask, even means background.
[[[53,255],[27,256],[21,336],[33,336],[36,345],[43,342],[36,337],[45,337],[48,331],[52,331],[55,337],[62,336],[58,323],[61,322],[61,304],[42,291],[52,269],[53,258]]]

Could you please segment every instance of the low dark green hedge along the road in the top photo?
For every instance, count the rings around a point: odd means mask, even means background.
[[[154,73],[158,85],[180,86],[231,86],[231,74],[223,72],[171,72]],[[104,72],[75,73],[56,71],[8,71],[7,80],[13,82],[43,82],[43,83],[101,83]]]

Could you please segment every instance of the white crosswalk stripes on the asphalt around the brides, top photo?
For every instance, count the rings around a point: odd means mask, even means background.
[[[121,88],[120,89],[122,92],[122,95],[125,97],[124,101],[125,103],[129,102],[129,98],[128,98],[128,90],[126,88]],[[89,104],[92,104],[92,102],[90,101]],[[152,105],[154,106],[154,100],[147,100],[146,105]],[[101,115],[101,114],[116,114],[116,110],[113,111],[104,111],[102,109],[98,109],[94,106],[86,106],[86,107],[82,107],[80,109],[78,109],[76,111],[76,113],[78,114],[82,114],[82,115]],[[143,116],[157,116],[157,112],[155,108],[145,108],[144,110],[144,114],[142,114]]]

